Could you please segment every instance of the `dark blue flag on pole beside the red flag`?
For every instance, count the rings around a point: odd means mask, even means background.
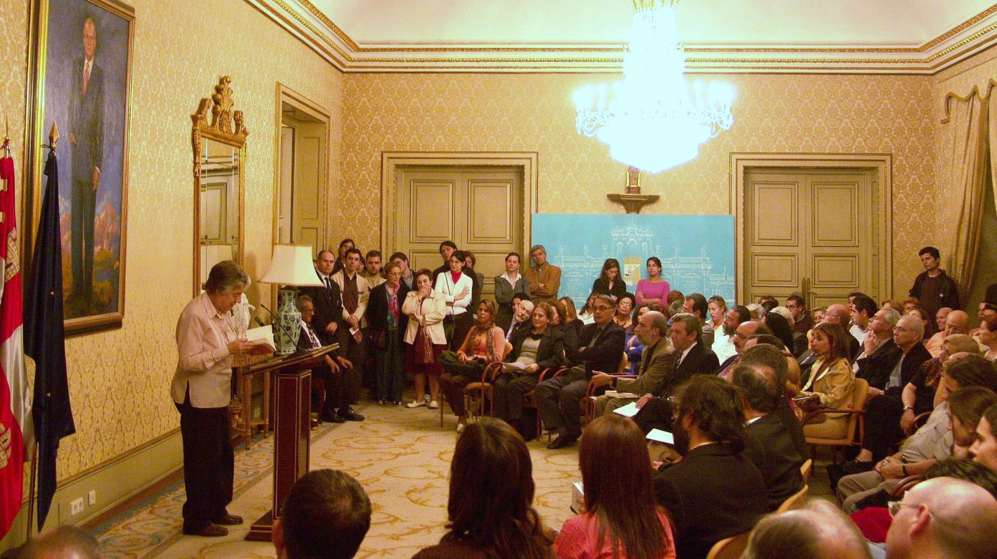
[[[59,163],[55,149],[45,163],[49,177],[24,297],[24,353],[35,360],[32,419],[38,441],[38,530],[56,492],[59,439],[76,432],[66,379],[62,308],[62,234],[59,228]]]

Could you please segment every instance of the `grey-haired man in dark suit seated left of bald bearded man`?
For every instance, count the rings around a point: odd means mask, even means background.
[[[581,407],[588,380],[593,371],[615,372],[626,345],[623,329],[613,322],[616,302],[608,295],[597,295],[592,303],[595,323],[578,335],[574,367],[553,379],[547,379],[533,391],[537,412],[547,428],[557,429],[557,438],[547,448],[563,448],[581,436]]]

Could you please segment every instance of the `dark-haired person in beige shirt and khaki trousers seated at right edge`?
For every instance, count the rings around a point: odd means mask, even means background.
[[[984,387],[997,392],[993,366],[979,356],[966,356],[950,361],[942,374],[943,401],[935,407],[927,422],[904,440],[900,451],[876,462],[869,471],[845,475],[837,482],[837,497],[845,512],[853,512],[855,503],[877,492],[891,491],[908,475],[919,475],[937,460],[952,453],[952,430],[949,427],[950,392],[966,387]],[[980,419],[982,425],[983,419]],[[979,426],[977,426],[979,429]]]

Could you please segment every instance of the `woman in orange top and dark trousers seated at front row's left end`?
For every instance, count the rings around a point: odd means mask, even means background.
[[[505,352],[505,337],[496,326],[496,304],[486,299],[478,305],[478,324],[468,332],[457,352],[440,354],[440,389],[447,397],[450,409],[457,416],[457,432],[468,424],[468,410],[464,406],[464,387],[479,382],[485,367],[501,361]]]

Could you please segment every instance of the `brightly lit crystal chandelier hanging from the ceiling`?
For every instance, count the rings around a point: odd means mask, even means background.
[[[734,88],[699,80],[690,95],[678,41],[679,0],[633,0],[633,30],[623,80],[588,84],[573,95],[578,134],[609,144],[609,156],[660,172],[699,154],[699,144],[734,124]]]

